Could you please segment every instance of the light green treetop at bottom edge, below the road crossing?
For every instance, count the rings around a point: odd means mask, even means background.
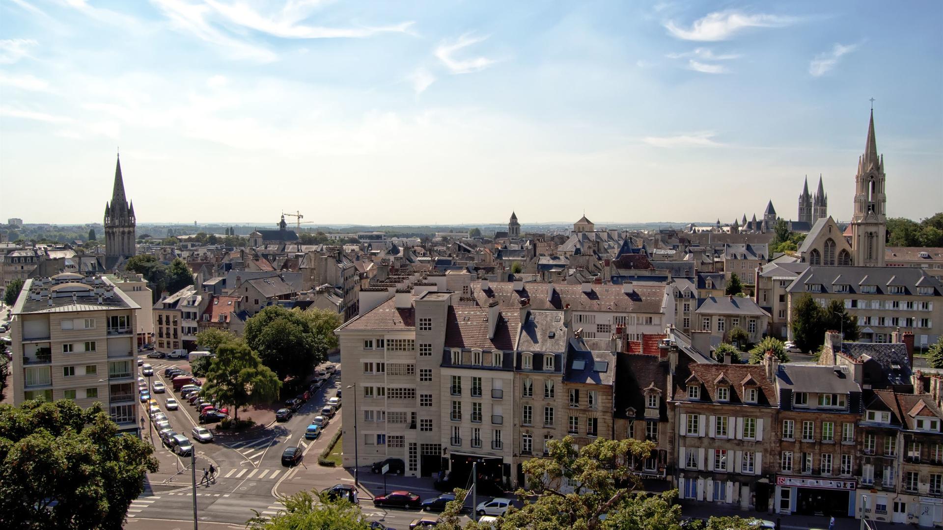
[[[256,517],[246,522],[252,530],[370,530],[360,508],[346,499],[316,501],[307,491],[300,491],[279,502],[285,506],[273,516]]]

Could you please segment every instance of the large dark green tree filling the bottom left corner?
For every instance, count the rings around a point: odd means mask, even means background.
[[[153,452],[118,436],[99,403],[0,405],[0,527],[120,529],[145,474],[157,472]]]

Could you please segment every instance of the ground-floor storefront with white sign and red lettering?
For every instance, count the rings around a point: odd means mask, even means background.
[[[854,517],[854,480],[776,476],[775,509],[781,514]]]

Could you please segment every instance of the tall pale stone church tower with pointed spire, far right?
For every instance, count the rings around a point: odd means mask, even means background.
[[[878,157],[874,109],[871,108],[865,153],[858,157],[858,173],[854,175],[852,250],[855,265],[884,267],[886,204],[884,157]]]

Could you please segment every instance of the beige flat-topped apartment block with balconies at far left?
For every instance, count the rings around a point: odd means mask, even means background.
[[[101,402],[123,432],[137,434],[138,309],[104,276],[27,279],[12,309],[13,404]]]

